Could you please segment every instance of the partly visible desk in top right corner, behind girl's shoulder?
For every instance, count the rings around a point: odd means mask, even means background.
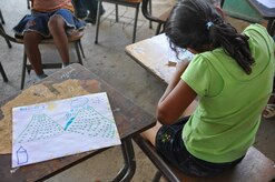
[[[247,0],[248,3],[266,20],[268,20],[267,31],[271,36],[275,33],[275,8],[267,8],[257,0]],[[275,2],[274,2],[275,3]]]

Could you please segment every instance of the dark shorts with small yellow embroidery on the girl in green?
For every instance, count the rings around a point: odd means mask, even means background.
[[[163,125],[156,135],[157,152],[165,161],[189,175],[214,176],[234,168],[243,158],[227,163],[210,163],[191,155],[185,148],[181,131],[189,118],[171,125]]]

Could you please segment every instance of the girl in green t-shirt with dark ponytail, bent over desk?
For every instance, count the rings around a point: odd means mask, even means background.
[[[179,1],[165,32],[173,50],[195,57],[177,65],[157,107],[158,123],[143,135],[183,172],[218,175],[254,143],[273,88],[275,43],[259,24],[238,33],[204,0]]]

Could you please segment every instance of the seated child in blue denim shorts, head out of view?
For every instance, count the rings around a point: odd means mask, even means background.
[[[32,0],[31,14],[24,16],[13,30],[17,36],[23,37],[26,54],[38,78],[42,79],[47,77],[38,47],[42,39],[53,39],[63,65],[68,65],[68,37],[84,28],[85,22],[73,17],[70,0]]]

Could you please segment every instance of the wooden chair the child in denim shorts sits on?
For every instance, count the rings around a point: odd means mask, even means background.
[[[3,29],[0,29],[0,36],[2,36],[6,40],[9,40],[11,42],[23,44],[22,38],[11,37],[9,34],[7,34]],[[81,46],[81,38],[82,37],[84,37],[84,31],[79,31],[79,33],[77,36],[69,37],[69,42],[75,44],[75,49],[76,49],[77,57],[78,57],[78,63],[80,63],[80,64],[82,64],[82,58],[85,58],[84,49]],[[42,42],[40,44],[53,44],[53,39],[45,39],[45,40],[42,40]],[[81,51],[82,58],[81,58],[80,51]],[[42,67],[43,67],[43,69],[57,69],[57,68],[61,68],[62,63],[61,62],[60,63],[42,63]],[[32,69],[31,65],[29,63],[27,63],[27,54],[26,54],[26,51],[23,50],[21,89],[23,89],[23,85],[24,85],[26,71],[28,71],[28,73],[30,73],[31,69]]]

